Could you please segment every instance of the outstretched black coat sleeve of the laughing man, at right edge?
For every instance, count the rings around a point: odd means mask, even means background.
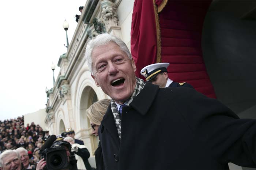
[[[218,100],[191,88],[178,91],[186,95],[177,93],[177,109],[212,157],[219,163],[255,167],[255,119],[239,119]]]

